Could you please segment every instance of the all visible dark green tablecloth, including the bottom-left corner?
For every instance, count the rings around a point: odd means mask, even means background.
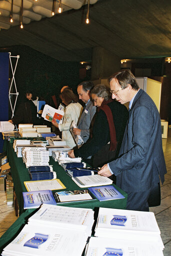
[[[5,141],[3,150],[7,153],[7,158],[10,165],[10,172],[13,179],[14,189],[18,201],[19,206],[19,218],[11,225],[11,227],[1,236],[0,238],[0,249],[2,249],[8,242],[10,242],[22,229],[23,224],[26,223],[26,220],[29,217],[29,214],[33,212],[35,209],[23,209],[23,197],[22,192],[26,192],[26,188],[24,186],[24,181],[30,180],[27,168],[22,161],[22,158],[17,158],[16,153],[12,148],[12,144]],[[56,176],[61,182],[65,185],[66,189],[63,190],[76,190],[80,189],[72,179],[65,173],[63,168],[55,162],[51,157],[49,161],[50,165],[53,165],[53,170],[56,172]],[[96,207],[106,207],[106,208],[117,208],[117,209],[125,209],[126,207],[126,199],[127,194],[115,186],[113,186],[125,197],[124,199],[117,200],[109,200],[100,202],[97,199],[90,201],[82,201],[79,203],[65,203],[65,206],[71,207],[82,207],[82,208],[92,208],[97,209]],[[56,190],[57,191],[57,190]],[[96,212],[97,213],[97,212]],[[97,214],[95,214],[97,216]]]

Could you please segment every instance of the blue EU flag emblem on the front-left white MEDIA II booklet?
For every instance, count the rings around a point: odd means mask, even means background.
[[[38,246],[45,242],[48,239],[47,234],[39,234],[35,233],[34,237],[30,238],[28,241],[24,243],[23,246],[28,246],[31,248],[36,248],[38,249]]]

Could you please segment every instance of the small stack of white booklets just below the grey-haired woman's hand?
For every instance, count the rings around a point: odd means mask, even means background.
[[[71,162],[81,162],[81,157],[70,158],[68,156],[68,151],[52,151],[52,158],[54,161],[57,161],[59,164],[61,163],[71,163]]]

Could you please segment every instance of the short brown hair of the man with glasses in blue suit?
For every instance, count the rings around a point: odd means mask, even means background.
[[[108,78],[108,83],[110,83],[110,81],[113,78],[118,81],[122,89],[125,89],[128,84],[130,84],[132,89],[135,91],[139,89],[136,79],[129,69],[123,69],[123,70],[120,70],[119,72],[114,73]]]

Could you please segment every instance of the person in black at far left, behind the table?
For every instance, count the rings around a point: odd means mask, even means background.
[[[38,97],[34,97],[31,91],[26,91],[24,102],[16,110],[14,117],[8,122],[18,124],[43,124],[43,119],[37,117]]]

